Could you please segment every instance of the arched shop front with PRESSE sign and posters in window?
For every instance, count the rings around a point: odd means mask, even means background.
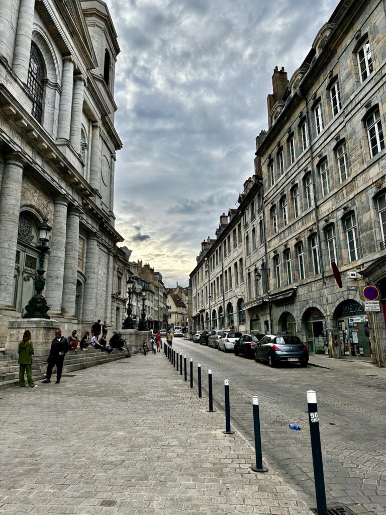
[[[337,307],[335,318],[341,357],[371,361],[369,318],[363,306],[355,300],[346,300]]]

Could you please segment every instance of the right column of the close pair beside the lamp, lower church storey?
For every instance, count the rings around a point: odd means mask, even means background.
[[[62,313],[67,317],[75,317],[80,212],[81,211],[78,208],[71,208],[67,213],[66,250],[64,257],[64,279],[62,295]]]

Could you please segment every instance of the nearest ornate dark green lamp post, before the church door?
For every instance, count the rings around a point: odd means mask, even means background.
[[[44,260],[47,251],[49,250],[48,242],[52,227],[48,224],[48,218],[44,218],[42,224],[38,227],[39,230],[39,241],[40,245],[37,245],[37,249],[40,251],[39,257],[39,268],[37,270],[37,276],[34,280],[34,287],[36,294],[30,299],[28,304],[25,306],[25,314],[23,318],[49,318],[47,315],[48,306],[46,299],[42,295],[44,286],[46,283],[44,276]]]

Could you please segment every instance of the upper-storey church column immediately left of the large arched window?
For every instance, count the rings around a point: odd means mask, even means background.
[[[34,9],[35,0],[20,0],[12,70],[24,84],[27,83],[28,78]]]

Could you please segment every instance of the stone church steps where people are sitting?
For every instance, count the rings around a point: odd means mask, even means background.
[[[126,353],[126,350],[119,351],[114,349],[111,354],[108,354],[107,352],[94,350],[90,347],[86,351],[78,350],[76,353],[74,351],[68,351],[64,359],[63,375],[69,372],[74,372],[75,370],[117,361],[117,359],[124,358]],[[39,361],[39,358],[34,358],[34,363],[32,365],[32,379],[35,382],[44,379],[46,366],[46,361]],[[26,374],[25,379],[27,381]],[[0,390],[17,386],[17,383],[19,383],[19,364],[17,363],[17,354],[5,354],[5,350],[0,349]]]

